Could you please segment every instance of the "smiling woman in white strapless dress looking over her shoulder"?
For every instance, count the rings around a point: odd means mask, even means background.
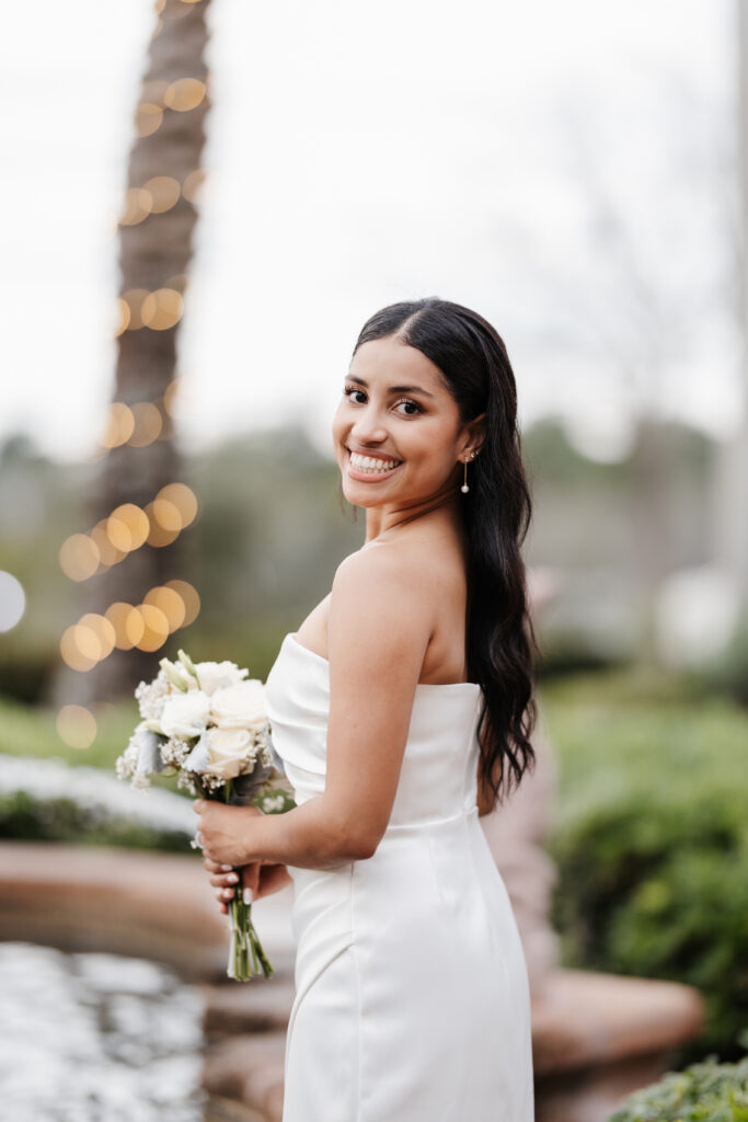
[[[366,543],[267,680],[298,806],[195,803],[222,911],[231,865],[255,898],[294,882],[284,1122],[533,1119],[525,960],[478,822],[533,762],[516,417],[475,312],[364,324],[332,434]]]

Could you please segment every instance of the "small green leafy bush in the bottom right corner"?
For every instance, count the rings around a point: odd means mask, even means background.
[[[608,1122],[748,1122],[748,1057],[709,1057],[636,1091]]]

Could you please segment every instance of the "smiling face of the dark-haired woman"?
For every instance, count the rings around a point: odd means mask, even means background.
[[[456,486],[469,447],[438,368],[394,337],[359,347],[332,435],[343,494],[364,507],[410,506]]]

